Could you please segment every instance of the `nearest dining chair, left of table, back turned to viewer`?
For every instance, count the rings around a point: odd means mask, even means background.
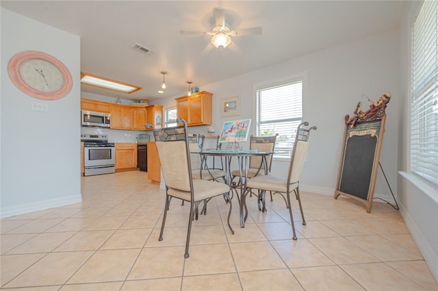
[[[227,184],[213,180],[193,178],[187,123],[182,118],[178,118],[177,122],[182,125],[169,128],[153,128],[151,124],[148,124],[147,127],[153,130],[159,161],[162,165],[164,184],[166,184],[166,204],[164,206],[162,227],[158,240],[163,240],[164,225],[166,224],[167,212],[172,197],[189,202],[190,212],[184,253],[184,258],[189,258],[192,222],[199,204],[216,196],[223,195],[230,205],[228,227],[231,230],[231,234],[234,234],[233,227],[231,227],[229,222],[232,206],[231,197],[229,197],[230,188]]]

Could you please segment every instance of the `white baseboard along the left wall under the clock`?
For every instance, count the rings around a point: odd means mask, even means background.
[[[82,202],[82,196],[70,195],[66,197],[60,197],[55,199],[47,199],[43,201],[38,201],[35,203],[21,204],[12,207],[6,207],[0,209],[0,218],[13,217],[19,214],[25,214],[34,211],[46,210],[49,208],[55,208],[60,206],[66,206],[68,204],[75,204]]]

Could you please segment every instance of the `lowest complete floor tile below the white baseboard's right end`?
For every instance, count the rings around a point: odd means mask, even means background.
[[[117,249],[96,251],[81,266],[68,283],[90,283],[105,281],[122,281],[131,270],[140,249]]]

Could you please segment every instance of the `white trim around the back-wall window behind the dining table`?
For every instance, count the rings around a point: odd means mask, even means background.
[[[301,98],[302,98],[302,120],[306,120],[307,118],[307,71],[304,72],[298,72],[296,74],[291,74],[291,75],[287,75],[285,77],[279,77],[276,79],[272,79],[269,81],[263,81],[260,83],[255,83],[253,85],[253,121],[254,121],[254,126],[253,129],[251,130],[251,133],[253,133],[253,135],[257,135],[257,91],[259,89],[265,89],[265,88],[269,88],[269,87],[276,87],[276,86],[281,86],[281,85],[286,85],[287,83],[295,83],[296,81],[301,81],[302,82],[302,92],[301,92]],[[293,144],[292,144],[292,148],[293,148]],[[289,161],[290,160],[290,156],[278,156],[276,154],[274,154],[274,156],[272,157],[273,161]]]

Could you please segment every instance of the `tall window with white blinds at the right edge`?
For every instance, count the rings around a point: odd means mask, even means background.
[[[438,185],[438,1],[424,1],[412,34],[411,171]]]

